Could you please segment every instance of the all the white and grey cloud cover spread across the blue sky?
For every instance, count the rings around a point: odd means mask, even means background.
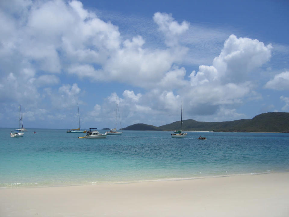
[[[145,36],[124,38],[118,26],[101,20],[80,1],[23,0],[0,6],[0,100],[6,107],[0,111],[2,118],[11,107],[26,103],[31,120],[43,118],[43,113],[65,119],[64,110],[80,102],[101,122],[111,116],[110,99],[118,95],[126,124],[179,120],[181,100],[186,118],[233,120],[247,118],[238,108],[260,94],[260,86],[288,90],[288,71],[275,74],[266,84],[251,79],[262,76],[274,49],[258,39],[231,34],[211,65],[199,65],[196,72],[187,67],[194,50],[182,38],[195,26],[172,14],[152,14],[163,46],[148,46]],[[85,89],[91,83],[95,89],[110,83],[122,87],[91,102]],[[288,112],[287,96],[280,101]]]

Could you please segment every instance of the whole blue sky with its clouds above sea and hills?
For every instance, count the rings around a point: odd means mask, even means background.
[[[289,1],[0,1],[0,127],[289,112]],[[121,124],[121,125],[120,125]]]

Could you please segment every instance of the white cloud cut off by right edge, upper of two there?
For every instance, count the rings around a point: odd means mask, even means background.
[[[276,74],[264,87],[273,90],[289,90],[289,71]]]

